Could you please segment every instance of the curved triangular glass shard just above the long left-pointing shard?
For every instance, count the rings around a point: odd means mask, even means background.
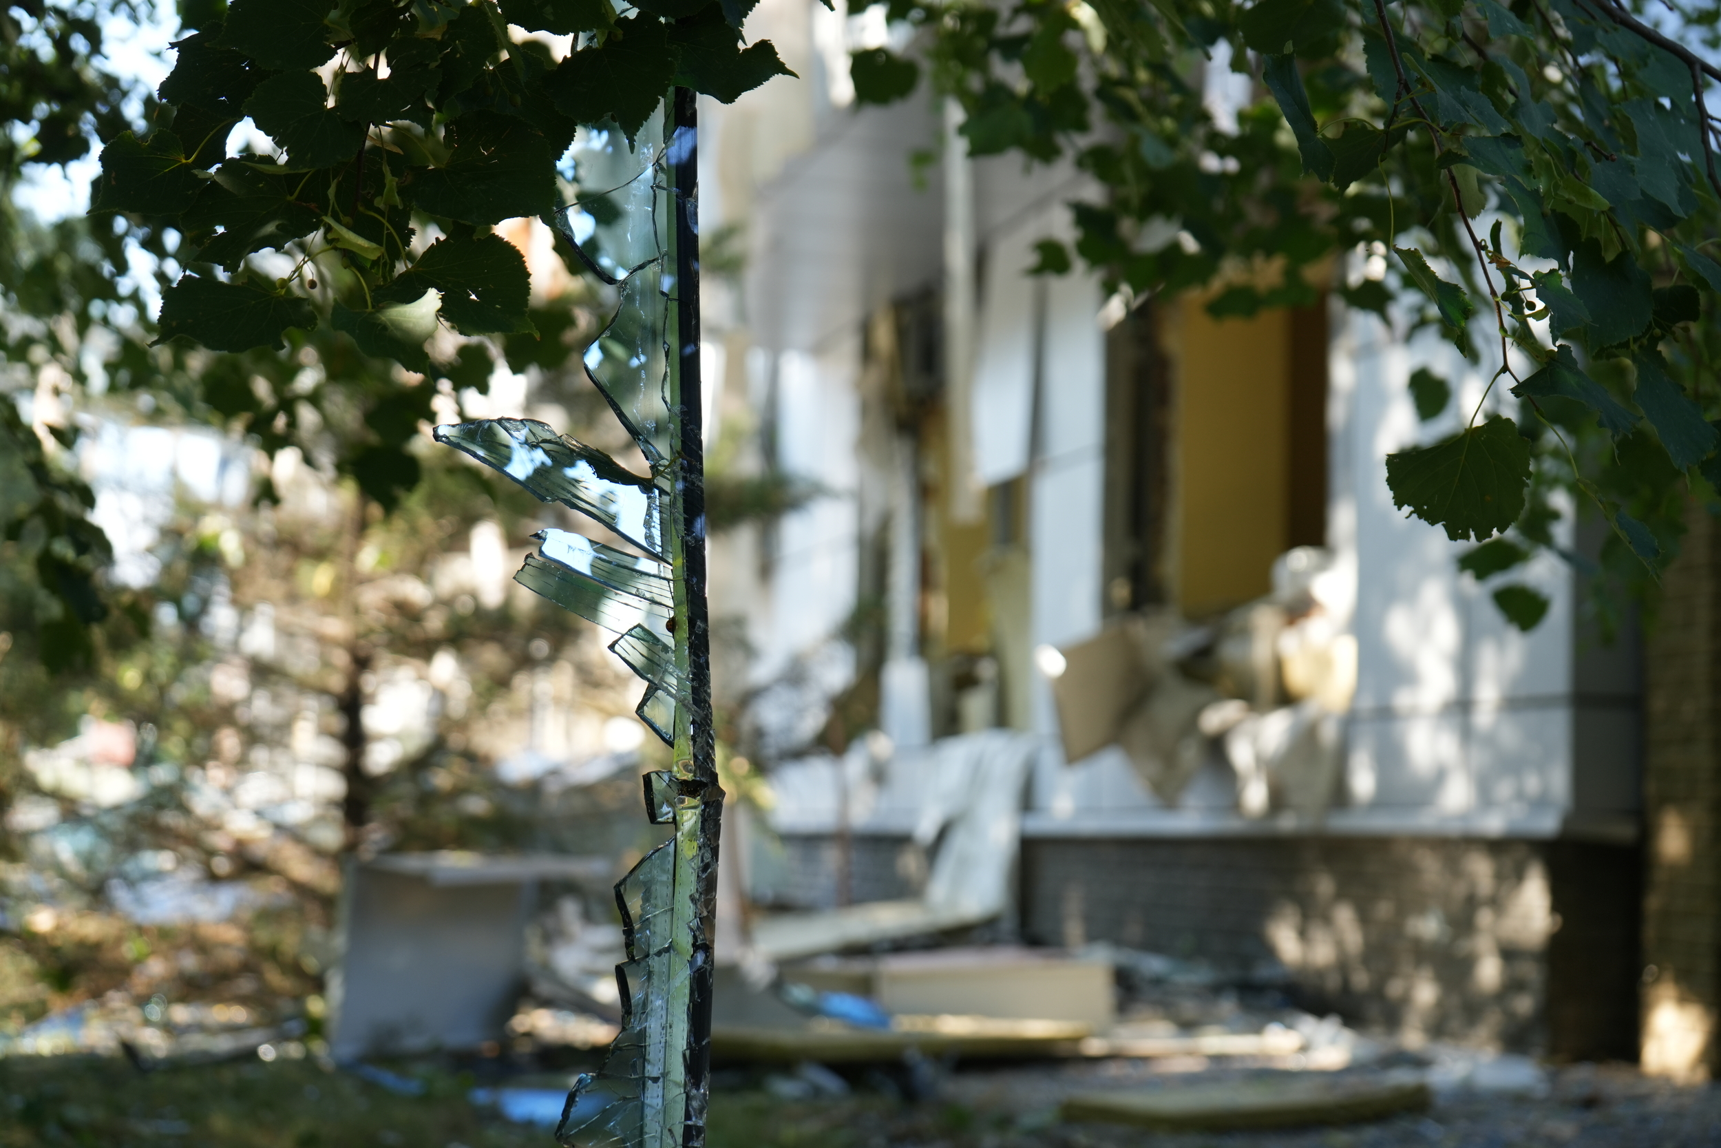
[[[609,399],[652,470],[669,458],[669,299],[661,265],[644,267],[621,284],[616,317],[585,348],[585,373]]]

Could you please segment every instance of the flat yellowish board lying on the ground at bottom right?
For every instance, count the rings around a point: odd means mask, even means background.
[[[1224,1133],[1382,1120],[1428,1107],[1420,1079],[1286,1074],[1231,1084],[1083,1093],[1064,1102],[1065,1120],[1134,1124],[1162,1133]]]

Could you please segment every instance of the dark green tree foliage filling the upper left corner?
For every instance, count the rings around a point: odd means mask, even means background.
[[[559,162],[582,124],[633,139],[671,84],[733,100],[785,74],[769,43],[742,43],[750,7],[188,0],[155,93],[105,69],[103,28],[136,19],[129,0],[0,9],[0,186],[98,145],[102,164],[86,220],[45,229],[0,203],[7,389],[52,365],[67,387],[298,447],[398,506],[439,389],[484,392],[497,351],[518,368],[578,349],[578,315],[534,317],[525,260],[490,227],[573,198]],[[577,50],[556,59],[540,33]],[[136,256],[155,282],[120,274]],[[77,430],[0,415],[21,463],[0,475],[0,534],[52,599],[26,645],[89,664],[114,594],[88,491],[65,473]]]

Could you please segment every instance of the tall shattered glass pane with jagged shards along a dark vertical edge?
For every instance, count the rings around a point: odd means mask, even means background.
[[[673,115],[669,114],[673,110]],[[585,355],[651,465],[640,477],[542,422],[492,418],[435,437],[546,503],[602,523],[632,554],[568,530],[540,530],[515,580],[616,635],[609,649],[645,682],[635,711],[675,750],[645,780],[645,814],[675,838],[616,885],[626,960],[616,966],[623,1026],[597,1072],[568,1096],[566,1148],[699,1148],[711,1059],[711,941],[718,830],[704,587],[704,466],[699,411],[694,95],[676,89],[628,146],[582,129],[575,203],[554,222],[587,270],[614,287],[616,312]],[[682,308],[687,310],[682,310]]]

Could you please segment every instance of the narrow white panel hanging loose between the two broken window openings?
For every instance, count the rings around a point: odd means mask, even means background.
[[[1026,272],[1045,225],[1031,219],[991,243],[979,313],[971,398],[974,475],[981,485],[1009,482],[1027,470],[1034,432],[1034,341],[1039,287]]]

